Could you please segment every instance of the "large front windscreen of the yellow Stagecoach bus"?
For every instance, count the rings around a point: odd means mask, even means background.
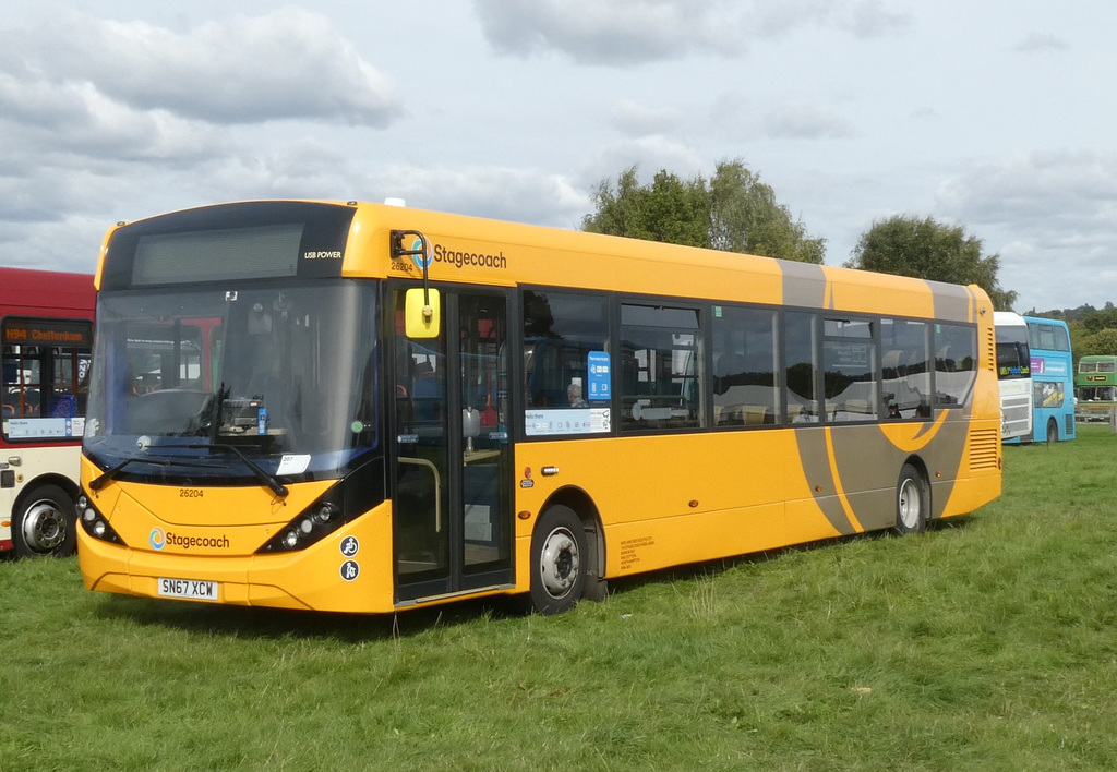
[[[147,436],[199,455],[236,445],[271,474],[334,474],[376,441],[371,289],[102,294],[87,451],[112,465]]]

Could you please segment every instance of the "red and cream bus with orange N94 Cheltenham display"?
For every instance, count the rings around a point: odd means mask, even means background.
[[[0,551],[64,556],[93,352],[92,274],[0,268]]]

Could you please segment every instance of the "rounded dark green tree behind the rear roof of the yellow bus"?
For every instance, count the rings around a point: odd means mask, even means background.
[[[993,307],[1010,311],[1016,293],[1003,289],[996,273],[1001,256],[982,256],[982,240],[966,236],[962,226],[947,226],[928,217],[897,215],[873,222],[861,235],[847,268],[914,276],[952,284],[976,284],[993,301]]]

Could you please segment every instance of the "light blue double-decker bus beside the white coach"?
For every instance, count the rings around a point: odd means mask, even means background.
[[[1070,331],[1059,320],[1025,316],[1032,370],[1032,441],[1075,439],[1075,365]],[[1027,440],[1027,438],[1025,438]]]

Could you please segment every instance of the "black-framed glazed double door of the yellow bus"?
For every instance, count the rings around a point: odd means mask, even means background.
[[[507,295],[442,290],[438,337],[409,340],[392,293],[389,437],[395,602],[513,583]]]

